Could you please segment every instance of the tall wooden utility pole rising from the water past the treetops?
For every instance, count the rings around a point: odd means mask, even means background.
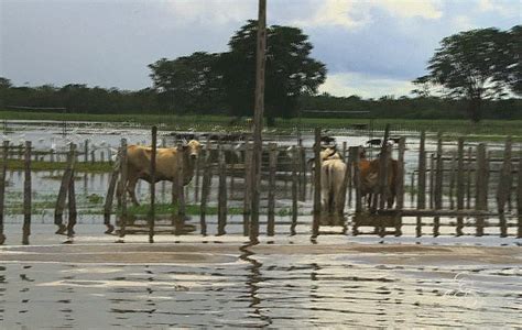
[[[267,0],[259,0],[258,13],[258,51],[255,59],[255,106],[253,116],[253,152],[252,152],[252,221],[250,221],[250,241],[258,242],[259,234],[259,200],[261,196],[261,155],[263,139],[264,112],[264,53],[267,50]]]

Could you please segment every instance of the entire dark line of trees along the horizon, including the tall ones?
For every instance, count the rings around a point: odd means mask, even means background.
[[[149,65],[152,87],[129,91],[69,84],[13,86],[0,78],[0,109],[64,107],[74,113],[226,114],[251,117],[254,101],[257,22],[248,21],[225,53],[196,52]],[[309,56],[313,45],[297,28],[267,29],[265,116],[404,119],[522,119],[521,26],[481,29],[444,38],[414,80],[414,97],[317,95],[326,66]],[[307,111],[307,110],[314,110]],[[317,111],[325,111],[317,113]]]

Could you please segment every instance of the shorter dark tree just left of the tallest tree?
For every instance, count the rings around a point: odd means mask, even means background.
[[[222,103],[218,54],[196,52],[149,65],[160,103],[178,112],[211,112]]]

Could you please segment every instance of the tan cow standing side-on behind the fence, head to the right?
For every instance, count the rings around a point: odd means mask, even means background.
[[[194,176],[195,161],[199,155],[202,145],[196,140],[191,140],[183,145],[183,185],[191,183]],[[135,197],[135,184],[138,179],[151,183],[151,153],[150,146],[129,145],[127,147],[127,190],[134,205],[139,205]],[[155,182],[176,179],[178,172],[177,158],[180,154],[177,147],[159,147],[156,150],[156,173]],[[120,185],[118,185],[119,187]],[[117,191],[120,200],[121,191]]]

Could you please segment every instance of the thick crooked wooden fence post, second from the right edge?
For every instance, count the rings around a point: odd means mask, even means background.
[[[497,208],[499,211],[500,237],[502,238],[505,238],[508,235],[508,226],[505,222],[504,207],[511,193],[511,186],[513,184],[512,174],[511,174],[511,170],[512,170],[511,147],[512,147],[512,140],[511,140],[511,136],[508,136],[508,139],[505,140],[505,147],[504,147],[504,161],[502,163],[502,168],[500,170],[499,186],[497,189]]]

